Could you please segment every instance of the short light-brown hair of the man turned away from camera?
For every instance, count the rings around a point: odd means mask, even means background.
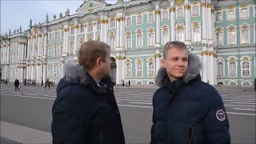
[[[98,58],[106,61],[110,46],[102,41],[91,40],[84,42],[78,51],[78,63],[86,70],[92,70]]]

